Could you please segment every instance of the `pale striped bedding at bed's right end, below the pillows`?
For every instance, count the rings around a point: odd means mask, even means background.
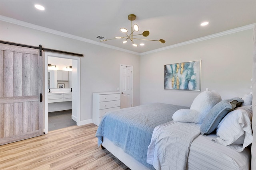
[[[216,135],[199,135],[190,146],[188,170],[249,170],[250,149],[242,152],[214,143]]]

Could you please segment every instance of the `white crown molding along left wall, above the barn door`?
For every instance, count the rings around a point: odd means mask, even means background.
[[[91,43],[91,44],[94,44],[94,45],[100,45],[102,47],[115,49],[115,50],[123,51],[123,52],[126,52],[126,53],[131,53],[131,54],[135,54],[135,55],[140,55],[140,53],[137,53],[137,52],[134,52],[134,51],[122,49],[122,48],[119,48],[119,47],[115,47],[113,45],[107,45],[107,44],[104,44],[104,43],[99,43],[97,41],[93,41],[93,40],[86,39],[86,38],[83,38],[83,37],[79,37],[79,36],[76,36],[76,35],[64,33],[64,32],[61,32],[61,31],[56,31],[54,29],[50,29],[50,28],[42,27],[42,26],[35,25],[35,24],[32,24],[32,23],[16,20],[16,19],[9,18],[9,17],[6,17],[6,16],[1,16],[0,15],[0,20],[5,21],[5,22],[9,22],[9,23],[13,23],[13,24],[16,24],[16,25],[21,25],[21,26],[24,26],[24,27],[36,29],[36,30],[39,30],[39,31],[52,33],[52,34],[55,34],[55,35],[60,35],[62,37],[76,39],[78,41],[83,41],[83,42]]]

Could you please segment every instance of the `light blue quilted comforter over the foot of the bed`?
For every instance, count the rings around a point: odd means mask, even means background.
[[[103,137],[107,137],[124,152],[148,168],[154,169],[146,163],[148,145],[154,128],[171,121],[173,113],[178,109],[188,108],[154,103],[108,112],[102,117],[96,132],[98,146],[101,145]]]

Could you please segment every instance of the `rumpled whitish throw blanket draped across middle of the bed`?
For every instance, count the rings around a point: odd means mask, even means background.
[[[148,146],[147,163],[157,170],[184,170],[192,141],[200,134],[200,125],[170,121],[155,127]]]

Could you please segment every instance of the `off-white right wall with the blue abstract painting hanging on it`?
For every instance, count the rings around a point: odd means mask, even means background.
[[[140,103],[190,106],[200,93],[164,90],[164,65],[202,60],[201,92],[216,90],[222,99],[252,91],[252,29],[141,56]]]

